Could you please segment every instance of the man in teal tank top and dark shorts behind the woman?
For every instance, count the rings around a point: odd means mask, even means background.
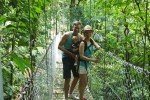
[[[73,31],[66,32],[62,36],[62,39],[60,40],[60,43],[58,45],[58,49],[60,49],[63,52],[62,62],[63,62],[63,78],[65,79],[64,92],[66,100],[68,99],[68,93],[70,98],[76,99],[72,95],[72,92],[78,82],[79,74],[76,71],[76,68],[74,67],[74,62],[76,59],[75,55],[72,52],[70,52],[70,50],[72,45],[72,36],[77,36],[79,41],[83,39],[83,37],[80,34],[78,34],[80,32],[80,28],[81,23],[79,21],[75,21],[73,23]],[[73,73],[74,79],[70,86],[71,71]]]

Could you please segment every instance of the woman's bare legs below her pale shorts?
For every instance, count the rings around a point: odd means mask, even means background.
[[[87,74],[80,74],[79,77],[79,98],[83,100],[84,91],[87,86]]]

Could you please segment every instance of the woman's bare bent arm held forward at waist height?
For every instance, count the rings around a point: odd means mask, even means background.
[[[82,60],[86,60],[86,61],[97,62],[97,59],[95,59],[95,58],[89,58],[89,57],[84,56],[84,49],[85,49],[84,46],[85,46],[84,42],[81,42],[80,46],[79,46],[79,55],[80,55],[80,58]]]

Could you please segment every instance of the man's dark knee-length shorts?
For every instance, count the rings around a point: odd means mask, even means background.
[[[70,79],[71,78],[71,71],[73,73],[73,77],[79,77],[79,73],[74,66],[75,60],[71,59],[70,57],[63,57],[63,78]]]

